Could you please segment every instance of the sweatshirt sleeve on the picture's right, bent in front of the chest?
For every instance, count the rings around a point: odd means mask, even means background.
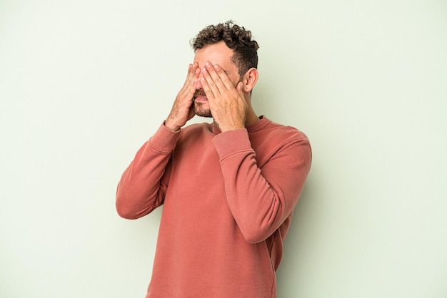
[[[311,166],[308,139],[291,133],[273,145],[258,167],[246,129],[220,133],[213,140],[224,175],[228,205],[247,242],[266,240],[291,215]]]

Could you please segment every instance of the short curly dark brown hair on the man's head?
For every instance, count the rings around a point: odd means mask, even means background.
[[[238,67],[240,76],[248,69],[258,67],[258,43],[251,40],[251,31],[234,24],[233,21],[207,26],[191,39],[191,46],[196,52],[219,41],[224,41],[226,46],[233,50],[231,61]]]

